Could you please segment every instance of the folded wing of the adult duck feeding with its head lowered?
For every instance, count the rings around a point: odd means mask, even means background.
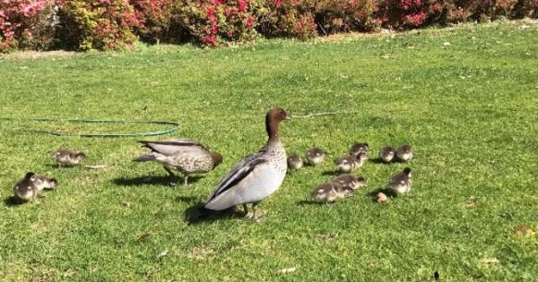
[[[200,143],[189,139],[170,139],[167,141],[139,141],[143,147],[149,148],[152,152],[165,156],[173,156],[178,153],[208,153],[208,150]]]

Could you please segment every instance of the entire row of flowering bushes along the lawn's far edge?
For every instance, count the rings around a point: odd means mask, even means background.
[[[538,0],[0,0],[0,51],[113,49],[139,38],[218,46],[499,17],[538,17]]]

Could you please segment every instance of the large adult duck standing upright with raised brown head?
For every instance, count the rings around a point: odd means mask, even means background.
[[[290,119],[282,108],[274,107],[265,115],[268,139],[257,153],[248,155],[231,168],[205,202],[204,209],[222,210],[243,205],[248,218],[256,216],[257,204],[278,190],[286,176],[286,150],[279,136],[279,124]],[[252,204],[252,215],[247,204]]]

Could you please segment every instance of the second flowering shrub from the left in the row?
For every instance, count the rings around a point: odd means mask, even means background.
[[[58,32],[63,47],[115,49],[136,41],[134,9],[128,0],[69,0],[60,10],[62,29]]]

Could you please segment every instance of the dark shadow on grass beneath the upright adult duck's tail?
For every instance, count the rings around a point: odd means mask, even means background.
[[[202,222],[212,223],[216,220],[243,218],[245,213],[234,208],[224,210],[205,209],[204,202],[197,202],[185,209],[184,219],[189,225],[196,225]]]

